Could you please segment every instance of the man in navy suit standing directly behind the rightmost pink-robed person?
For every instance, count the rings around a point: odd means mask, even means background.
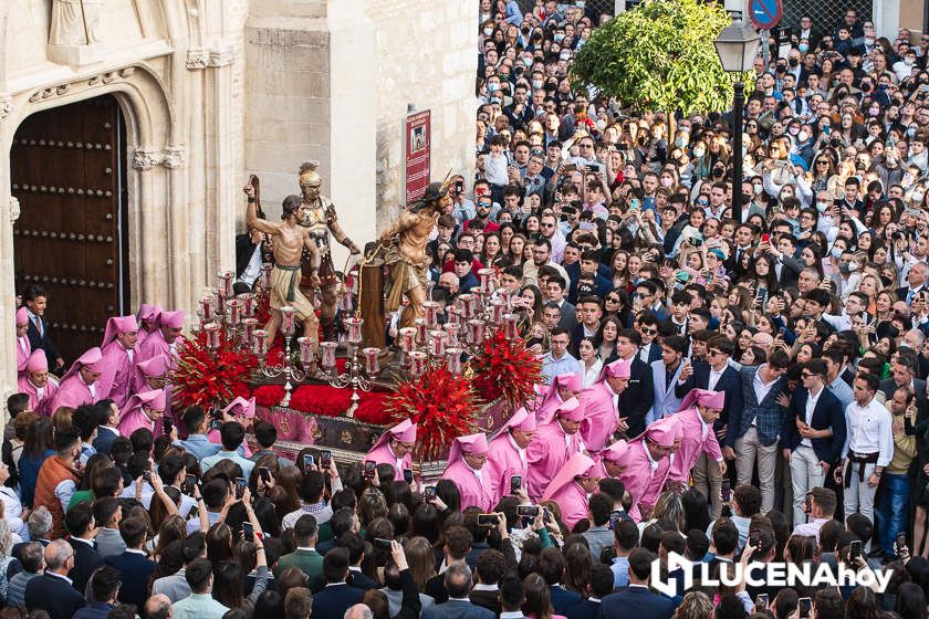
[[[724,336],[716,335],[707,342],[707,360],[691,364],[683,359],[680,376],[675,386],[675,395],[683,399],[692,389],[707,389],[726,394],[726,402],[713,423],[713,431],[722,442],[733,410],[742,410],[742,379],[739,370],[729,365],[735,345]],[[712,517],[722,513],[722,472],[719,464],[710,461],[706,454],[697,460],[692,471],[693,487],[708,496],[712,506]]]

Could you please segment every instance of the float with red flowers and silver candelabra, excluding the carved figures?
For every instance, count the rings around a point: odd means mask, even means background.
[[[269,342],[261,326],[273,312],[270,263],[244,294],[233,294],[231,272],[219,273],[219,285],[199,301],[199,326],[178,346],[171,381],[180,409],[254,397],[255,415],[274,424],[283,455],[330,450],[342,464],[361,462],[385,429],[410,419],[418,424],[416,469],[426,479],[441,474],[456,437],[500,428],[541,381],[541,360],[520,335],[511,295],[497,290],[492,269],[481,270],[480,285],[443,313],[425,294],[411,294],[400,318],[408,324],[388,347],[385,237],[340,274],[340,328],[321,327],[319,346],[298,337],[286,305]]]

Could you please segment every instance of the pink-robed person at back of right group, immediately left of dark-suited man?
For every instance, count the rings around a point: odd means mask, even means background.
[[[584,409],[581,436],[591,453],[597,453],[606,447],[616,430],[626,430],[625,421],[622,424],[619,422],[616,400],[629,386],[631,367],[629,361],[623,359],[604,366],[597,381],[577,396]]]

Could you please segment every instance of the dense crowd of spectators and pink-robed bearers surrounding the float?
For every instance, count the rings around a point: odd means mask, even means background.
[[[733,179],[728,116],[572,90],[609,15],[478,4],[478,166],[430,295],[443,321],[494,269],[537,399],[439,480],[410,421],[356,465],[291,459],[253,400],[171,406],[182,312],[109,318],[59,379],[30,286],[0,619],[927,618],[929,36],[802,18],[755,63]],[[756,585],[750,563],[890,576]]]

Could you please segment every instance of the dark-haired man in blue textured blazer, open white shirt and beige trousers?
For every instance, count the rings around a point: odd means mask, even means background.
[[[787,387],[785,375],[790,365],[787,354],[775,348],[766,363],[742,369],[742,410],[730,412],[726,430],[722,453],[727,460],[735,461],[738,485],[752,482],[758,463],[762,514],[774,507],[777,436],[784,417],[777,399]]]

